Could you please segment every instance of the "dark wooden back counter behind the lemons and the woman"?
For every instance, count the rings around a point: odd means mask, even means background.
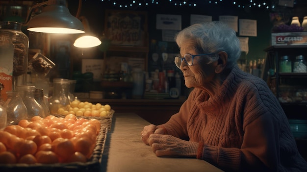
[[[115,113],[135,113],[155,125],[167,122],[179,111],[184,98],[180,99],[90,99],[81,101],[109,104]]]

